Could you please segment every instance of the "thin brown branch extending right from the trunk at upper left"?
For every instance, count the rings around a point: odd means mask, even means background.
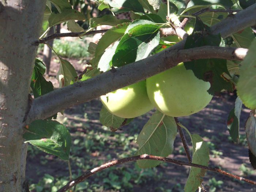
[[[33,45],[39,45],[39,44],[44,44],[47,41],[50,41],[52,39],[56,39],[56,38],[60,38],[60,37],[80,37],[81,34],[84,35],[91,35],[91,34],[97,34],[97,33],[105,33],[108,29],[104,29],[104,30],[96,30],[96,31],[89,31],[85,34],[83,34],[84,32],[71,32],[71,33],[54,33],[52,35],[49,35],[48,37],[39,39],[38,41],[35,41],[33,43]]]

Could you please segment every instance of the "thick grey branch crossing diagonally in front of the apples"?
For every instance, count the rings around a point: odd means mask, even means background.
[[[54,90],[34,99],[26,124],[147,79],[184,61],[220,58],[242,60],[248,49],[202,46],[185,50],[163,50],[146,59],[99,74],[91,79]]]

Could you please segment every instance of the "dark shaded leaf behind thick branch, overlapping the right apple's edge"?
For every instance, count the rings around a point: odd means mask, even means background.
[[[203,35],[200,31],[209,33],[210,27],[204,25],[200,19],[196,19],[195,30],[187,37],[185,49],[204,45],[221,46],[221,35]],[[195,76],[206,82],[210,82],[211,88],[208,93],[218,95],[223,89],[232,91],[233,84],[224,78],[223,73],[229,75],[226,60],[224,59],[198,59],[184,63],[186,69],[192,69]]]

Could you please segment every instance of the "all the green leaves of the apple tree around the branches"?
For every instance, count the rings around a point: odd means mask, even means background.
[[[253,28],[247,27],[223,39],[221,34],[211,33],[211,26],[235,13],[208,10],[195,14],[203,9],[242,10],[251,6],[252,1],[191,0],[186,4],[185,1],[169,0],[169,7],[167,7],[167,4],[161,0],[95,0],[99,10],[108,9],[112,14],[90,18],[87,20],[88,30],[84,30],[75,22],[76,20],[86,20],[86,17],[82,12],[74,9],[71,2],[68,0],[46,1],[41,37],[44,37],[50,27],[63,22],[67,23],[68,29],[72,32],[86,33],[100,25],[112,27],[102,35],[97,44],[90,43],[88,52],[93,57],[90,60],[90,67],[81,78],[69,61],[59,57],[60,68],[56,78],[60,88],[90,79],[102,72],[114,70],[116,67],[145,59],[176,44],[177,42],[165,41],[161,35],[161,29],[171,27],[173,16],[176,16],[173,25],[178,26],[184,18],[189,18],[188,25],[194,26],[193,33],[186,39],[185,49],[206,45],[248,48],[248,54],[242,62],[225,59],[198,59],[186,62],[185,67],[191,69],[197,78],[210,82],[211,87],[208,93],[211,95],[219,95],[223,90],[230,92],[234,89],[237,90],[238,97],[227,119],[227,129],[233,141],[238,142],[242,104],[251,109],[245,130],[250,159],[255,161],[256,39]],[[114,16],[121,12],[130,12],[131,20],[117,19]],[[169,16],[172,18],[170,19]],[[178,41],[178,38],[176,39]],[[53,91],[53,85],[44,79],[44,73],[44,64],[36,59],[31,78],[31,89],[35,98]],[[68,161],[71,136],[64,125],[52,118],[56,118],[56,115],[45,120],[35,120],[27,125],[27,132],[24,133],[23,138],[46,153],[57,155]],[[99,120],[112,131],[132,121],[132,119],[117,117],[104,107],[100,111]],[[181,124],[180,126],[184,127]],[[185,130],[188,131],[186,128]],[[174,117],[157,110],[144,125],[136,140],[138,143],[136,155],[150,154],[167,157],[173,151],[176,135],[177,122]],[[206,143],[199,135],[191,133],[189,135],[193,145],[192,163],[207,166],[209,150]],[[159,163],[160,161],[156,160],[138,161],[138,165],[143,168],[154,167]],[[252,165],[255,165],[255,162],[252,162]],[[204,174],[205,170],[191,168],[184,190],[186,192],[195,191],[202,183]]]

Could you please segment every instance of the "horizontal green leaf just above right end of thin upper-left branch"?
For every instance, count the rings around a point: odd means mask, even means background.
[[[115,26],[121,23],[129,23],[131,22],[128,19],[117,19],[114,15],[101,15],[98,17],[93,17],[89,21],[89,25],[91,28],[97,27],[99,25],[110,25]]]

